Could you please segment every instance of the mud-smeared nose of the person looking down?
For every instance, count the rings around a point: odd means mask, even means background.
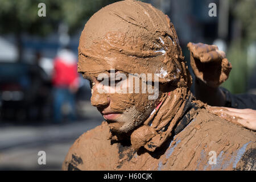
[[[108,105],[108,95],[106,93],[99,93],[98,89],[94,89],[92,97],[90,98],[90,103],[95,107]]]

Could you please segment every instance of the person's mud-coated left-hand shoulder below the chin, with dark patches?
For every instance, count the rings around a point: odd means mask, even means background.
[[[98,158],[104,148],[110,147],[110,130],[105,121],[100,126],[82,134],[69,148],[68,154],[63,163],[63,170],[85,169],[86,163]]]

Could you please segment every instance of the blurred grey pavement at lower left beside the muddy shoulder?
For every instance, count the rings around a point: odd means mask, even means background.
[[[100,113],[89,104],[83,121],[39,126],[0,126],[0,170],[60,170],[73,142],[101,124]],[[38,152],[46,164],[38,164]]]

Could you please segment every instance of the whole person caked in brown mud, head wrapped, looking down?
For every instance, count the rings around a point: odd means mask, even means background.
[[[255,170],[254,131],[195,100],[175,28],[150,4],[121,1],[94,14],[78,71],[105,121],[76,140],[64,170]]]

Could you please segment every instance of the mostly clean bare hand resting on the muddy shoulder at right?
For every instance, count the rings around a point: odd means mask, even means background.
[[[210,113],[216,114],[227,121],[242,125],[247,129],[256,131],[256,110],[253,109],[233,109],[230,107],[209,106]]]

